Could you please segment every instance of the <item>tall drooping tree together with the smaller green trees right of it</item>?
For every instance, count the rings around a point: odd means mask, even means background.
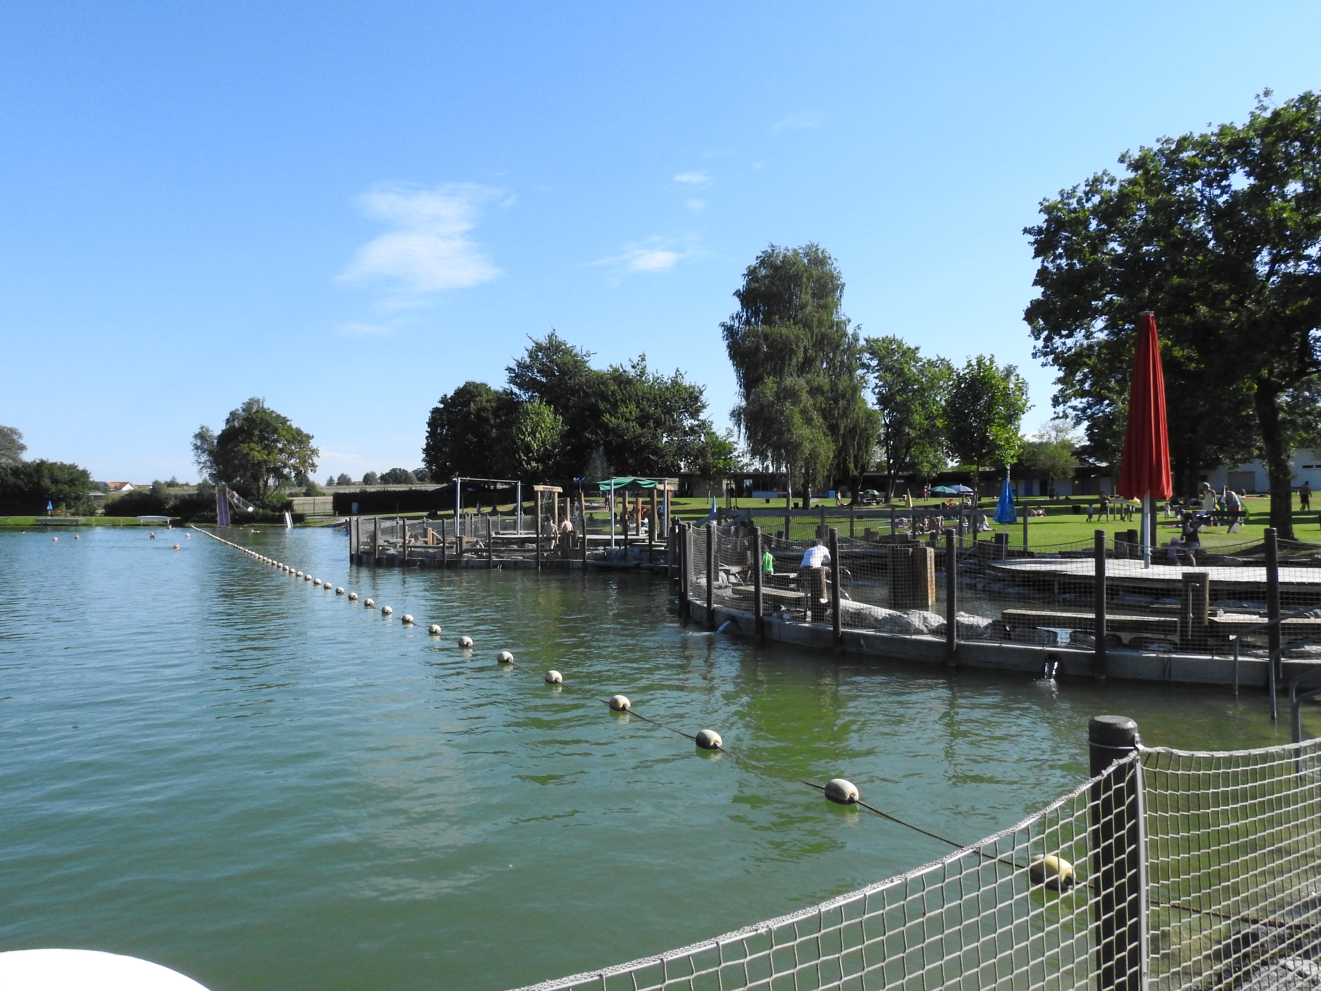
[[[873,466],[931,474],[951,459],[1009,465],[1022,445],[1026,383],[1013,365],[976,355],[962,367],[898,337],[863,337],[843,313],[844,280],[830,252],[775,244],[744,272],[738,309],[721,324],[748,453],[814,488]],[[868,403],[868,394],[875,404]],[[806,503],[804,503],[806,505]]]

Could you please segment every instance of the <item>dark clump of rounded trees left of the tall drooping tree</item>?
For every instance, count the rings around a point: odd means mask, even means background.
[[[719,476],[737,466],[733,440],[705,418],[701,386],[663,375],[646,357],[593,369],[592,354],[553,330],[505,369],[506,385],[465,382],[427,419],[432,480]]]

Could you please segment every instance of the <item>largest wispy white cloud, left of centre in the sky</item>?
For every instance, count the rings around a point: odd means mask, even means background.
[[[490,281],[499,270],[465,234],[477,225],[482,203],[497,194],[495,189],[468,182],[435,189],[373,189],[359,200],[363,213],[394,230],[358,248],[339,279],[384,280],[412,297]],[[396,303],[407,305],[408,300]]]

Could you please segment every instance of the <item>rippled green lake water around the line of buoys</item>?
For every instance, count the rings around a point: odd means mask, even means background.
[[[713,637],[653,576],[373,571],[338,531],[229,532],[384,620],[199,534],[58,535],[0,534],[0,950],[131,954],[211,991],[499,991],[948,852],[610,714],[614,692],[966,842],[1085,778],[1091,715],[1149,744],[1288,739],[1258,690]]]

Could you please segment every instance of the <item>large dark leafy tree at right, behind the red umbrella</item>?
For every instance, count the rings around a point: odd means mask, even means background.
[[[1162,137],[1041,203],[1025,320],[1057,403],[1123,420],[1137,314],[1156,313],[1176,476],[1258,451],[1293,536],[1291,411],[1321,375],[1321,98],[1263,94],[1247,123]]]

